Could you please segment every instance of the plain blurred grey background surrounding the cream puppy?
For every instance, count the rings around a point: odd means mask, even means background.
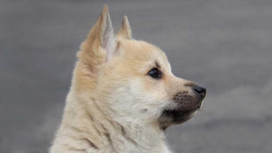
[[[76,52],[108,4],[115,31],[161,47],[173,73],[207,88],[167,130],[177,153],[272,152],[272,1],[1,1],[0,152],[47,152]]]

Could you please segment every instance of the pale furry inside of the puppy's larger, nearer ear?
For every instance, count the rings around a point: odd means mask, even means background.
[[[115,35],[113,33],[112,21],[109,14],[107,14],[107,20],[102,39],[104,42],[103,48],[106,51],[106,61],[108,61],[114,55],[116,48]]]

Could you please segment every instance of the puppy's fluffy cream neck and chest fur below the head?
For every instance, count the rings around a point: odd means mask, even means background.
[[[100,106],[95,91],[85,96],[78,86],[74,77],[52,153],[169,152],[161,129],[115,121],[115,112]]]

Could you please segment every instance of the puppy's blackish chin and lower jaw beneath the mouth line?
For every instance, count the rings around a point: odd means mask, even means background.
[[[193,117],[194,113],[198,111],[200,107],[201,105],[187,110],[165,109],[160,116],[160,127],[166,129],[171,125],[186,122]]]

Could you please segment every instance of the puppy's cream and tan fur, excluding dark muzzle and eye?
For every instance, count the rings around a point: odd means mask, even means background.
[[[158,118],[164,108],[177,105],[171,99],[177,90],[191,93],[184,84],[194,83],[172,74],[164,52],[131,39],[126,16],[115,36],[105,5],[77,57],[50,152],[170,152]],[[157,64],[161,80],[147,75]]]

